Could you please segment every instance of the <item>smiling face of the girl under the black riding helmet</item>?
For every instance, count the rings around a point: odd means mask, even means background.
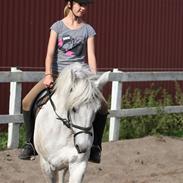
[[[87,4],[81,4],[73,1],[72,11],[73,13],[78,16],[82,17],[87,10]]]

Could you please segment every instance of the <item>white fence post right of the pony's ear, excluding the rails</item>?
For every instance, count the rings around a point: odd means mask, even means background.
[[[118,69],[113,69],[113,72],[121,72]],[[111,94],[111,110],[121,109],[121,97],[122,97],[122,83],[119,81],[112,82],[112,94]],[[109,126],[109,141],[115,141],[119,139],[120,118],[111,117]]]

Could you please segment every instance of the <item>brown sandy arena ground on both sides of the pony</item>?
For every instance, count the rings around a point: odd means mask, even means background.
[[[45,183],[39,158],[19,160],[19,151],[0,151],[0,183]],[[84,183],[183,183],[183,139],[104,143],[102,163],[89,163]]]

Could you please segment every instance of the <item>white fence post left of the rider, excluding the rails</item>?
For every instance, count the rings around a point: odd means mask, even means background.
[[[11,68],[11,72],[21,72],[16,67]],[[21,94],[22,84],[17,82],[10,83],[9,114],[21,114]],[[20,124],[8,124],[8,144],[9,149],[17,148],[19,145]]]

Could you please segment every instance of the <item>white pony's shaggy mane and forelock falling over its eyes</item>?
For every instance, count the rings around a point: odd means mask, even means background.
[[[63,69],[56,80],[55,93],[65,99],[66,110],[90,103],[90,107],[98,110],[102,93],[90,80],[92,73],[83,64],[75,63]],[[64,102],[64,101],[61,101]]]

